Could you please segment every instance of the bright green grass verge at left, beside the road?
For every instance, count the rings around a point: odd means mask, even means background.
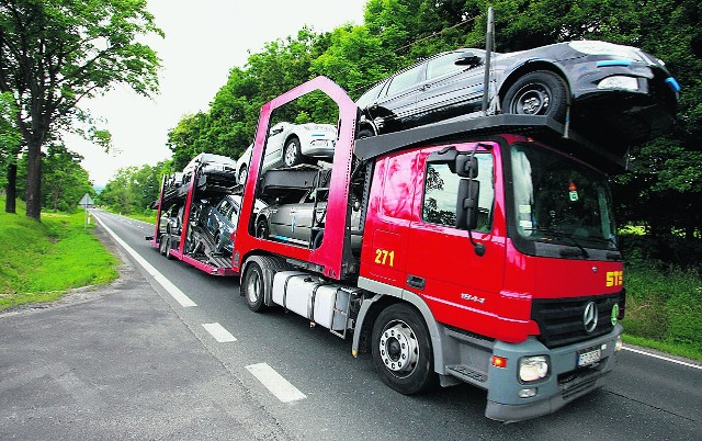
[[[4,196],[0,196],[4,208]],[[59,298],[68,290],[118,276],[117,260],[84,226],[84,214],[42,213],[37,223],[0,213],[0,309]]]

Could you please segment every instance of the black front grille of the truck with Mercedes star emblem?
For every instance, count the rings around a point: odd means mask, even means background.
[[[577,343],[612,331],[612,308],[620,294],[574,298],[533,299],[531,317],[539,324],[539,340],[547,348]],[[599,319],[592,332],[585,330],[582,315],[589,302],[595,302]]]

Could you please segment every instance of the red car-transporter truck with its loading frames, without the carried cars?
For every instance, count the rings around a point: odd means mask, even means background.
[[[317,90],[339,106],[330,170],[262,173],[272,112]],[[612,149],[565,137],[543,116],[454,118],[363,139],[356,118],[324,77],[264,104],[247,181],[228,190],[242,194],[228,264],[186,256],[186,234],[165,247],[173,239],[158,226],[154,246],[240,276],[253,312],[282,306],[351,337],[352,354],[370,352],[403,394],[468,383],[487,391],[488,418],[519,421],[601,387],[625,306],[607,174],[623,162]],[[183,231],[194,174],[181,190]],[[253,210],[286,182],[324,197],[307,245],[269,236]]]

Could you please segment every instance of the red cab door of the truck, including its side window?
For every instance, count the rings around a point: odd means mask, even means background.
[[[471,151],[474,144],[458,146]],[[478,148],[479,197],[478,224],[471,231],[476,242],[485,246],[478,256],[468,231],[455,227],[458,183],[462,179],[446,163],[432,162],[430,154],[439,148],[427,148],[422,182],[414,197],[412,222],[409,228],[405,289],[422,296],[444,324],[464,329],[476,329],[480,319],[498,310],[505,265],[503,204],[501,185],[495,178],[494,150]],[[496,189],[498,191],[496,191]],[[466,326],[471,324],[471,326]]]

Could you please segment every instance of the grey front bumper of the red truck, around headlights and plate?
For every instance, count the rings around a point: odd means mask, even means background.
[[[533,337],[520,344],[497,342],[492,353],[511,362],[506,369],[490,366],[485,416],[506,422],[535,418],[602,387],[616,362],[616,337],[622,331],[618,324],[608,335],[556,349],[547,349]],[[578,368],[578,352],[590,348],[601,348],[600,362]],[[529,355],[547,355],[551,370],[546,378],[523,384],[518,374],[519,359]],[[521,398],[519,394],[524,388],[535,388],[536,395]]]

